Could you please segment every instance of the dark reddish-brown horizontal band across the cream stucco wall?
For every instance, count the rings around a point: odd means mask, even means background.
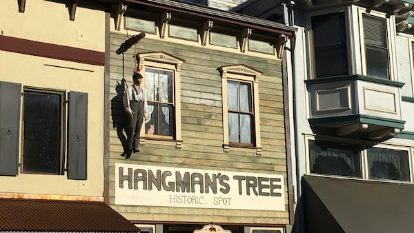
[[[90,65],[105,65],[105,52],[0,35],[0,50]]]

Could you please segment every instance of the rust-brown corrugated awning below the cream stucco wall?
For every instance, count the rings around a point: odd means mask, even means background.
[[[101,202],[0,199],[0,232],[139,232]]]

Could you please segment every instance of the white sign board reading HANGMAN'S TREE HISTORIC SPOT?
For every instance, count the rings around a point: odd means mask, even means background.
[[[115,163],[115,204],[285,211],[284,177]]]

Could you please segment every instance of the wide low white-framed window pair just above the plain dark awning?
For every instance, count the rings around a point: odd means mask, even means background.
[[[413,182],[413,147],[380,144],[361,149],[358,144],[306,138],[310,174]]]

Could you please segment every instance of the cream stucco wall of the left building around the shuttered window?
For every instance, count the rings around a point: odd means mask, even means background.
[[[27,1],[24,13],[18,12],[17,1],[6,0],[1,5],[0,33],[4,36],[104,52],[104,12],[77,8],[75,21],[70,21],[68,9],[60,3]],[[82,40],[77,32],[84,32]],[[68,180],[66,174],[19,173],[0,176],[0,192],[102,197],[103,66],[0,51],[0,70],[0,81],[88,93],[88,180]]]

